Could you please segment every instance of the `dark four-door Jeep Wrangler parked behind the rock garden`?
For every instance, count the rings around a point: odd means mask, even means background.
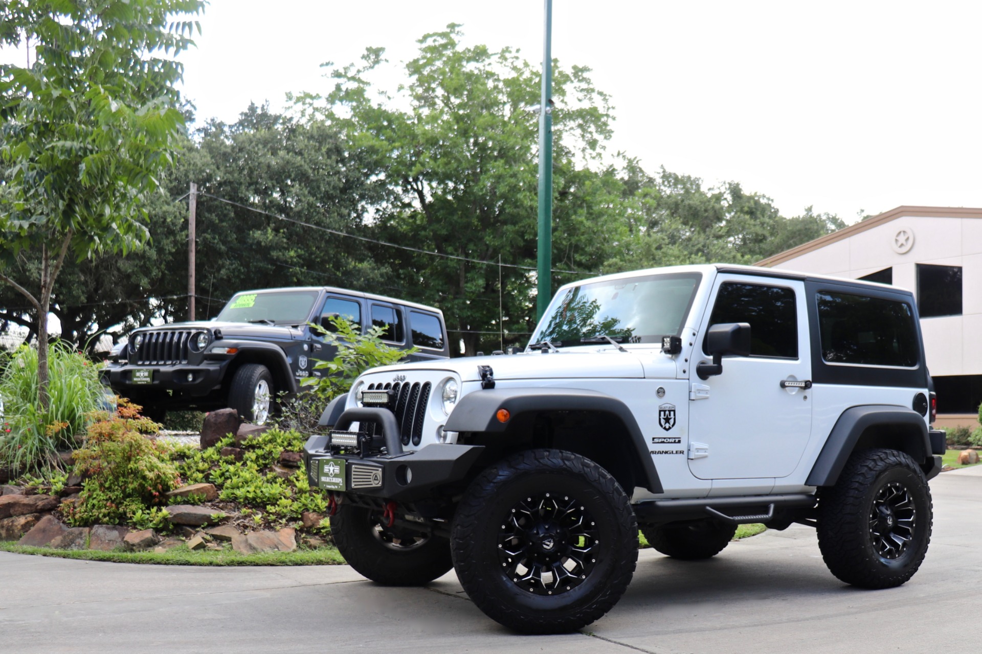
[[[362,331],[384,327],[394,347],[417,347],[409,361],[450,356],[439,309],[343,288],[270,288],[237,293],[212,321],[134,330],[113,348],[102,381],[157,421],[168,410],[232,407],[262,425],[279,393],[296,393],[300,379],[320,377],[314,363],[334,358],[337,348],[309,324],[333,329],[336,316]]]

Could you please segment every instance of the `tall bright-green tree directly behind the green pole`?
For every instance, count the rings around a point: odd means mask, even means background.
[[[464,47],[461,37],[460,25],[424,35],[406,64],[406,84],[380,100],[367,76],[384,51],[369,48],[361,65],[332,71],[331,92],[299,101],[305,115],[340,126],[373,156],[369,175],[390,191],[375,207],[377,233],[449,255],[377,250],[415,289],[413,299],[443,309],[448,330],[472,354],[481,332],[493,334],[484,342],[497,349],[501,318],[512,342],[534,326],[538,153],[529,108],[538,102],[539,71],[509,48]],[[618,240],[620,184],[591,168],[600,166],[611,133],[607,96],[589,69],[554,71],[554,261],[584,272],[566,281],[598,271]]]

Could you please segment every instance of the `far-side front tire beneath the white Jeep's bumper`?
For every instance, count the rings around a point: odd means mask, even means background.
[[[395,535],[411,535],[399,528],[381,528],[381,514],[342,504],[331,517],[331,535],[338,551],[359,575],[387,586],[418,586],[443,577],[454,562],[450,542],[439,536],[418,538],[410,546],[395,545]]]

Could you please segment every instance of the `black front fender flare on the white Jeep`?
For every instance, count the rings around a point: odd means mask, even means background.
[[[594,411],[616,417],[630,436],[633,451],[637,454],[645,488],[653,493],[664,492],[655,463],[641,428],[627,404],[594,390],[582,388],[494,388],[475,390],[464,395],[451,413],[444,429],[448,431],[480,431],[501,433],[509,423],[500,423],[495,415],[499,409],[507,409],[512,419],[524,413],[540,411]],[[628,490],[629,492],[629,490]]]

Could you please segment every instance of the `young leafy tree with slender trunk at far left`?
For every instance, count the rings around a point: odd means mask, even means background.
[[[184,116],[172,57],[188,48],[201,0],[10,0],[4,44],[35,46],[28,67],[0,66],[0,279],[37,318],[38,404],[48,405],[47,316],[72,253],[132,251],[144,202],[173,163]],[[35,290],[7,274],[36,256]]]

